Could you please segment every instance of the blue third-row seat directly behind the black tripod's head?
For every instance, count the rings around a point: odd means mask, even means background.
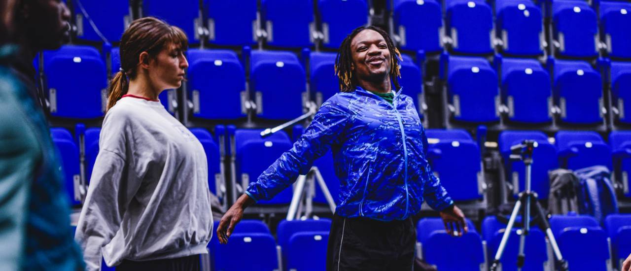
[[[538,131],[505,131],[500,134],[498,144],[500,154],[504,158],[506,180],[512,183],[512,194],[526,190],[526,167],[523,161],[510,161],[510,147],[521,144],[524,140],[537,142],[533,150],[533,165],[531,168],[531,188],[539,199],[548,199],[550,180],[548,172],[558,168],[557,148],[548,142],[548,137]]]

